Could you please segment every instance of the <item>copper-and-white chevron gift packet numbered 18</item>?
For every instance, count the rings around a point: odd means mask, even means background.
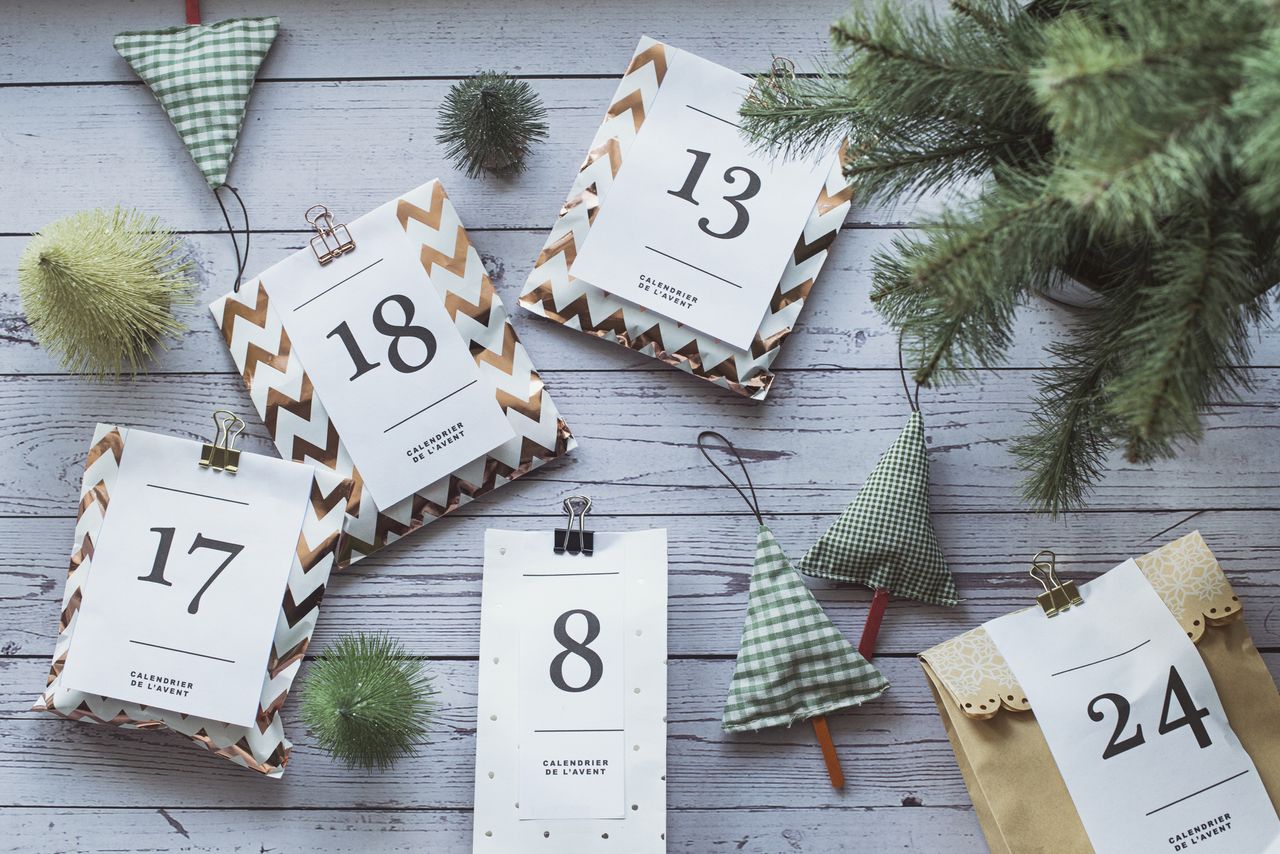
[[[351,251],[303,246],[210,310],[280,455],[356,483],[347,563],[576,443],[440,182],[335,222]]]

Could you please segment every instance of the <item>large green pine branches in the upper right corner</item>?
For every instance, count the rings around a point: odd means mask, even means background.
[[[874,260],[872,298],[922,383],[1001,362],[1029,294],[1102,297],[1014,444],[1024,495],[1080,507],[1114,448],[1144,463],[1244,387],[1280,279],[1275,0],[872,0],[815,77],[762,78],[742,125],[790,151],[847,141],[864,200],[982,182]]]

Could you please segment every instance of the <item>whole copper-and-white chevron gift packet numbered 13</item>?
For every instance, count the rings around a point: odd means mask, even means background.
[[[754,85],[641,38],[521,305],[763,398],[851,191],[744,137]]]

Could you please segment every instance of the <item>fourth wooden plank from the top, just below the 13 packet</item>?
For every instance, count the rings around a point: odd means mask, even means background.
[[[582,341],[582,359],[607,346]],[[751,461],[765,512],[836,511],[854,498],[908,415],[890,370],[783,374],[764,405],[676,370],[547,371],[544,380],[581,447],[485,497],[477,511],[520,502],[543,512],[585,488],[602,512],[745,512],[694,447],[707,428],[723,430]],[[1092,507],[1280,507],[1280,369],[1260,370],[1256,380],[1242,402],[1208,420],[1207,440],[1176,461],[1133,466],[1117,458]],[[934,510],[1018,507],[1021,474],[1006,446],[1024,429],[1033,393],[1032,374],[1014,370],[922,397]],[[97,421],[202,438],[219,406],[248,417],[241,447],[274,453],[232,374],[143,375],[114,387],[65,375],[0,375],[0,433],[8,438],[0,447],[0,515],[72,512],[86,437]]]

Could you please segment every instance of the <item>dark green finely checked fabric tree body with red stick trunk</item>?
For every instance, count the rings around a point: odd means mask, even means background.
[[[956,603],[956,586],[929,519],[924,421],[913,412],[854,503],[797,567],[805,575],[887,589],[929,604]]]

